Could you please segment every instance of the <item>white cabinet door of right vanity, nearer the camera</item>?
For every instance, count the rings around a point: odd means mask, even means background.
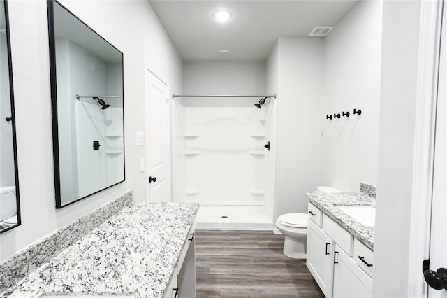
[[[371,297],[372,278],[360,269],[356,261],[342,248],[335,246],[334,293],[333,297]]]

